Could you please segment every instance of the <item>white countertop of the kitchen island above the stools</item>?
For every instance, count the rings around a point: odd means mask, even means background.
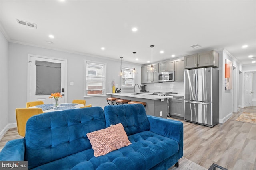
[[[107,93],[110,95],[116,95],[116,96],[125,96],[125,97],[132,97],[132,98],[142,98],[142,99],[150,99],[150,100],[158,100],[158,99],[167,99],[172,98],[172,96],[158,96],[158,95],[150,95],[150,93],[137,93],[134,95],[133,93]],[[153,94],[153,93],[151,93]]]

